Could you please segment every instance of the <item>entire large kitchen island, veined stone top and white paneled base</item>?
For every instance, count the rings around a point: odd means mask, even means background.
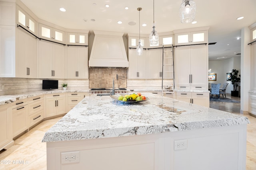
[[[244,170],[247,117],[144,93],[89,95],[46,132],[48,170]]]

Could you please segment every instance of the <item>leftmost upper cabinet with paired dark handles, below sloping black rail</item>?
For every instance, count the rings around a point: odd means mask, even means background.
[[[16,29],[16,77],[38,77],[37,40],[35,37]]]

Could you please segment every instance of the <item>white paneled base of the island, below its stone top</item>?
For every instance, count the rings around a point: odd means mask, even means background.
[[[174,141],[187,148],[174,150]],[[61,163],[79,151],[79,162]],[[244,170],[246,125],[149,135],[47,142],[48,170]]]

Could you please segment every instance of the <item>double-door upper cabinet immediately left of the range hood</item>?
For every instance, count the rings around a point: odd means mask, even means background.
[[[67,47],[67,78],[88,78],[88,48]]]

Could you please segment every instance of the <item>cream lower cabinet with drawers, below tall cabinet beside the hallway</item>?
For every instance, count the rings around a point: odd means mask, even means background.
[[[206,92],[176,92],[176,99],[191,104],[209,107],[209,93]]]

